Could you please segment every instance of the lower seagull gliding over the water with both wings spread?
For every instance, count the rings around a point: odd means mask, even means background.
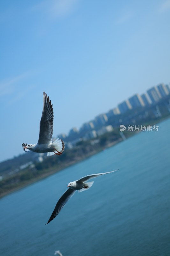
[[[119,169],[117,169],[117,170],[119,170]],[[117,170],[112,171],[112,172],[116,172]],[[60,199],[58,200],[58,202],[54,208],[53,213],[51,214],[51,217],[49,218],[48,222],[45,225],[47,225],[51,220],[53,220],[58,215],[58,213],[62,210],[63,206],[68,202],[68,200],[71,198],[71,196],[74,195],[76,190],[78,190],[78,192],[82,192],[82,191],[85,191],[92,187],[94,181],[86,182],[86,183],[85,183],[85,181],[90,180],[92,178],[96,178],[100,175],[107,174],[107,173],[111,173],[111,172],[91,174],[91,175],[87,175],[79,180],[70,182],[67,186],[67,187],[69,187],[69,189],[67,189],[66,192],[63,194],[63,196],[60,197]]]

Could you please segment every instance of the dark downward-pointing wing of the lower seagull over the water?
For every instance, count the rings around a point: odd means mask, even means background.
[[[49,218],[46,225],[58,215],[58,213],[62,210],[63,206],[67,203],[67,201],[71,198],[71,196],[74,195],[75,192],[76,190],[73,190],[71,188],[67,189],[67,191],[63,194],[63,196],[61,196],[60,199],[58,200],[54,208],[54,211],[51,214],[51,217]]]

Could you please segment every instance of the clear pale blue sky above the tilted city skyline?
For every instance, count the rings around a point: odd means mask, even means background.
[[[54,135],[170,82],[170,0],[0,2],[0,161],[36,143],[43,91]]]

